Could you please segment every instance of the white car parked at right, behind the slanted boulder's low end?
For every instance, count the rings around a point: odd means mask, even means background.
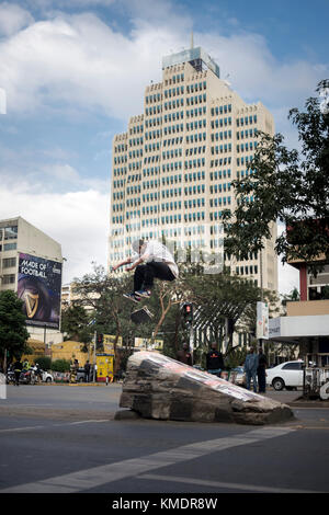
[[[304,362],[285,362],[274,368],[266,368],[266,385],[274,390],[303,387]]]

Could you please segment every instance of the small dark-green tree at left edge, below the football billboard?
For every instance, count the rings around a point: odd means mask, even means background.
[[[0,356],[9,360],[20,357],[30,336],[23,313],[23,301],[11,290],[0,291]]]

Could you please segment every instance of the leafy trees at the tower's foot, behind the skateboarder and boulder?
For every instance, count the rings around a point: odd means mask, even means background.
[[[115,334],[116,343],[122,336],[122,364],[134,346],[135,336],[163,340],[164,354],[175,357],[178,350],[190,339],[190,328],[184,323],[181,309],[184,301],[194,306],[195,356],[200,363],[213,341],[223,345],[226,318],[232,320],[236,329],[254,331],[260,288],[253,282],[231,276],[228,271],[205,274],[202,264],[188,262],[181,266],[177,281],[156,281],[147,301],[155,314],[154,320],[139,325],[131,321],[131,312],[137,306],[123,297],[124,293],[132,290],[132,274],[106,275],[102,266],[94,265],[92,274],[75,282],[78,306],[88,308],[88,319],[94,320],[92,330]],[[273,304],[277,300],[270,291],[264,293],[264,298]],[[232,354],[231,339],[226,351]]]

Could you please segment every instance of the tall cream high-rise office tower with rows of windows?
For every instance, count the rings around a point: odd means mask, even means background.
[[[271,113],[243,102],[201,47],[164,57],[144,113],[113,140],[109,264],[136,238],[164,237],[181,261],[188,248],[220,256],[220,215],[236,206],[231,181],[250,173],[257,130],[274,134]],[[272,233],[261,255],[224,258],[231,273],[276,290],[275,225]]]

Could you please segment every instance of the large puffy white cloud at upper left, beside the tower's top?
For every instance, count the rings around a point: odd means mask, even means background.
[[[90,13],[31,25],[0,44],[8,112],[55,104],[117,117],[140,112],[145,81],[161,56],[156,50],[150,59],[148,41],[115,33]]]

